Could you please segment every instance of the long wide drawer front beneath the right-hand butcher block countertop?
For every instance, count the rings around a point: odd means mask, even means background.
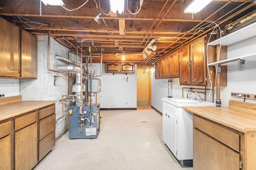
[[[193,126],[239,152],[239,135],[220,125],[193,116]]]

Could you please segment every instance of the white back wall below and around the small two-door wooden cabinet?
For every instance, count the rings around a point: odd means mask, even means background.
[[[100,75],[100,64],[92,64]],[[101,92],[97,93],[100,108],[137,108],[137,67],[134,74],[114,74],[105,72],[102,64]],[[126,82],[128,76],[128,82]]]

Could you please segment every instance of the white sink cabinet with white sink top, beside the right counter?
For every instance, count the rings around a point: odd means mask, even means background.
[[[162,139],[182,167],[193,165],[193,115],[182,106],[214,106],[193,99],[161,98]]]

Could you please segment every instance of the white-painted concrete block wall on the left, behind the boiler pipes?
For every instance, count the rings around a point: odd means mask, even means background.
[[[56,119],[62,116],[63,95],[68,94],[68,75],[67,73],[52,72],[48,66],[48,36],[37,35],[38,39],[38,77],[37,79],[21,79],[20,95],[22,100],[56,100]],[[68,49],[50,39],[50,69],[56,70],[57,64],[65,64],[56,60],[55,55],[68,58]],[[76,61],[76,55],[69,53],[69,59]],[[68,105],[64,103],[64,117],[56,123],[55,137],[58,138],[67,129]]]

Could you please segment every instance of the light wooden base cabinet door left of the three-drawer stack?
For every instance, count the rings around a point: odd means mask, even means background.
[[[37,124],[15,132],[15,169],[32,169],[37,163]]]

